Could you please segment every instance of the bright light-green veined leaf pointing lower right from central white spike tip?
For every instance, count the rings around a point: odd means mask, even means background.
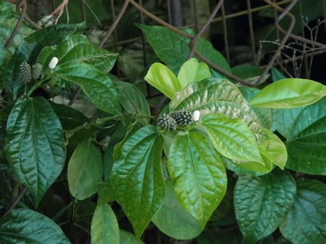
[[[240,119],[210,113],[202,117],[201,125],[215,149],[224,157],[263,164],[254,135]]]

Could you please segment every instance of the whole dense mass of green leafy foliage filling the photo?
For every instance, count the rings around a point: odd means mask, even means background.
[[[18,16],[0,10],[4,46]],[[325,243],[325,85],[276,73],[241,86],[187,60],[188,39],[138,27],[162,61],[143,76],[169,98],[158,113],[109,74],[118,54],[82,33],[23,23],[1,48],[0,243],[69,243],[80,230],[139,243],[153,225],[171,243]],[[232,72],[204,38],[197,50]],[[54,99],[76,87],[91,115]]]

